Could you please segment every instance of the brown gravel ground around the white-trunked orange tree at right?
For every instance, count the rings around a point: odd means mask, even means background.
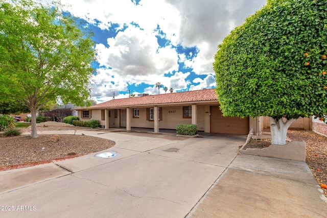
[[[305,130],[288,130],[287,137],[290,140],[307,143],[306,162],[318,183],[327,184],[327,137]],[[245,148],[264,148],[269,145],[270,141],[251,140]],[[327,197],[327,190],[323,189],[323,191]]]

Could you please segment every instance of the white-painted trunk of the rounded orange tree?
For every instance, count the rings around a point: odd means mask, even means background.
[[[271,143],[284,145],[286,144],[286,134],[288,128],[296,119],[289,119],[284,123],[283,118],[278,121],[269,116],[270,120],[270,132],[271,132]]]

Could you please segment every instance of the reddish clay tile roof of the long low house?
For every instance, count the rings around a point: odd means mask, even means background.
[[[142,106],[142,105],[160,105],[160,104],[187,103],[187,102],[205,102],[205,101],[218,101],[216,89],[202,89],[202,90],[195,90],[195,91],[146,95],[146,96],[140,96],[134,98],[126,98],[126,99],[115,99],[115,100],[111,100],[91,106],[89,107],[89,109],[129,107],[129,106]]]

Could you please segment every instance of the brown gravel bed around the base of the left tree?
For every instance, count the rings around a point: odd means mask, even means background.
[[[71,127],[38,127],[42,130],[67,130]],[[85,129],[74,127],[74,129]],[[24,128],[30,132],[30,128]],[[30,135],[0,137],[0,166],[16,165],[42,160],[52,160],[68,156],[68,153],[89,154],[103,151],[114,146],[114,142],[104,138],[86,135],[58,134],[59,141],[53,142],[49,134],[38,134],[38,138]],[[44,148],[42,152],[41,148]]]

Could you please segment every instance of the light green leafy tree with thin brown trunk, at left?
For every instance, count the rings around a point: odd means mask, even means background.
[[[49,101],[82,105],[95,70],[92,33],[59,3],[0,0],[0,98],[25,104],[32,115]]]

